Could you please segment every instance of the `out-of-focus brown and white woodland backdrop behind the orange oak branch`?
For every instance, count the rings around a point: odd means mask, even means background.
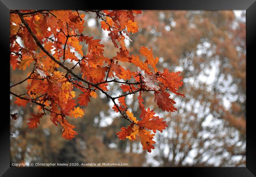
[[[116,49],[108,32],[101,30],[94,13],[86,13],[83,34],[101,39],[104,55],[113,57]],[[145,107],[155,109],[169,127],[155,136],[152,153],[138,141],[121,141],[115,135],[127,122],[114,112],[112,103],[98,93],[84,108],[85,116],[70,123],[78,135],[73,140],[61,136],[61,127],[48,118],[37,129],[28,129],[27,119],[34,106],[13,104],[10,113],[11,162],[128,163],[129,166],[245,166],[246,162],[246,43],[245,11],[143,11],[135,20],[139,32],[126,41],[130,54],[140,46],[152,47],[158,68],[182,71],[184,85],[173,96],[175,113],[163,112],[154,104],[154,95],[145,94]],[[87,46],[83,46],[87,51]],[[70,65],[71,66],[71,65]],[[124,64],[126,68],[132,66]],[[31,66],[32,67],[32,66]],[[27,68],[31,70],[32,68]],[[79,66],[75,68],[80,70]],[[76,71],[75,71],[76,72]],[[26,72],[11,69],[10,85]],[[13,90],[26,92],[26,83]],[[115,85],[110,92],[118,96]],[[76,95],[79,90],[76,90]],[[126,98],[139,116],[137,95]]]

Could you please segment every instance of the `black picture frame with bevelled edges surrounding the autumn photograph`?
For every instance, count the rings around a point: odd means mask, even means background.
[[[167,172],[167,175],[190,175],[190,176],[204,176],[204,177],[252,177],[256,176],[256,133],[254,128],[253,107],[255,100],[256,84],[254,83],[254,65],[253,61],[256,59],[254,50],[256,49],[256,0],[157,0],[157,1],[85,1],[85,0],[0,0],[0,46],[2,49],[2,63],[0,67],[1,80],[6,83],[2,86],[1,96],[1,128],[0,128],[0,175],[6,176],[52,176],[52,171],[68,175],[76,175],[78,172],[89,174],[88,170],[102,170],[102,168],[17,168],[10,167],[10,122],[7,118],[9,106],[6,101],[9,100],[7,94],[7,86],[9,85],[10,65],[9,65],[9,10],[14,9],[172,9],[172,10],[246,10],[246,50],[247,50],[247,66],[246,66],[246,93],[247,97],[247,139],[246,139],[246,167],[237,168],[147,168],[142,169],[145,173],[152,175],[152,172],[161,170]],[[6,89],[6,90],[5,90]],[[4,108],[6,107],[6,109]],[[103,168],[105,174],[122,174],[124,171],[130,171],[133,175],[141,168]],[[75,171],[74,171],[75,170]],[[84,173],[86,171],[86,173]],[[114,173],[113,173],[114,172]],[[132,174],[131,173],[131,174]],[[65,176],[64,175],[64,176]],[[70,176],[70,175],[69,175]]]

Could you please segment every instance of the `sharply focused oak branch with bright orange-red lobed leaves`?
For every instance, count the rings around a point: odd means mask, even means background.
[[[119,48],[113,58],[104,56],[104,44],[100,39],[82,33],[88,11],[10,12],[10,65],[13,70],[26,70],[33,65],[26,79],[10,87],[27,82],[27,92],[22,95],[10,93],[16,97],[18,106],[37,104],[39,113],[32,113],[28,119],[30,129],[36,128],[46,112],[50,112],[52,123],[63,127],[63,138],[72,140],[77,133],[68,117],[82,118],[82,107],[96,99],[97,92],[102,92],[112,100],[113,110],[129,121],[129,125],[121,127],[117,133],[120,140],[139,137],[143,149],[151,152],[156,143],[156,130],[162,132],[167,124],[156,116],[154,110],[144,107],[143,93],[154,93],[154,101],[163,111],[176,111],[170,93],[184,96],[178,92],[183,84],[180,72],[158,70],[158,57],[154,57],[152,48],[141,46],[140,55],[130,55],[124,41],[130,40],[128,33],[138,31],[135,17],[141,11],[90,10],[101,20],[101,28],[109,32],[113,45]],[[83,52],[83,45],[88,46],[87,53]],[[67,61],[73,62],[74,66],[67,67]],[[126,69],[122,63],[132,63],[137,70]],[[80,73],[74,73],[76,66],[80,67]],[[65,72],[60,72],[60,68]],[[119,85],[123,94],[117,97],[109,95],[109,83]],[[82,94],[76,95],[75,89]],[[138,94],[139,118],[126,105],[125,98],[129,94]],[[15,116],[12,115],[14,120]]]

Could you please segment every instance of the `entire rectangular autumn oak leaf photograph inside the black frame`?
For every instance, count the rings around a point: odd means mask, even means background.
[[[245,16],[11,10],[11,166],[245,167]]]

